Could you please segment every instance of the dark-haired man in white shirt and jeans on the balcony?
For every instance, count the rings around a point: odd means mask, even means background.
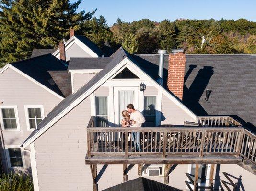
[[[142,115],[142,113],[136,109],[134,109],[133,104],[128,104],[127,110],[130,113],[130,120],[131,125],[130,127],[141,127],[142,123],[144,123],[145,117]],[[136,151],[141,152],[140,149],[140,132],[132,132],[132,140],[134,142],[134,148]]]

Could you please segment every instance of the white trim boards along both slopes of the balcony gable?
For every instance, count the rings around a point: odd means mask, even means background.
[[[77,106],[81,101],[83,101],[87,96],[90,96],[93,91],[95,91],[100,85],[104,84],[104,82],[108,79],[110,79],[113,75],[115,75],[118,71],[120,71],[122,68],[128,67],[128,69],[131,69],[134,74],[136,74],[140,79],[149,79],[157,89],[159,89],[165,96],[167,96],[170,100],[172,100],[177,106],[182,108],[189,116],[194,118],[196,120],[197,116],[190,111],[185,105],[183,105],[175,96],[171,95],[169,92],[167,92],[161,85],[159,85],[157,82],[155,82],[148,74],[146,74],[144,71],[142,71],[136,64],[134,64],[128,57],[125,57],[119,64],[117,64],[111,71],[109,71],[103,78],[101,78],[97,83],[92,85],[90,89],[88,89],[86,92],[84,92],[80,97],[78,97],[74,102],[70,104],[70,106],[66,107],[64,110],[62,110],[58,116],[54,117],[45,127],[38,130],[38,132],[32,136],[30,139],[28,139],[26,142],[23,143],[23,147],[27,147],[29,144],[31,144],[36,138],[38,138],[40,135],[42,135],[45,131],[47,131],[48,128],[50,128],[53,124],[55,124],[60,118],[65,116],[72,108]]]

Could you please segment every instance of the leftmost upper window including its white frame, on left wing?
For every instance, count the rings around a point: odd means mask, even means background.
[[[1,106],[1,125],[6,130],[19,129],[17,106]]]

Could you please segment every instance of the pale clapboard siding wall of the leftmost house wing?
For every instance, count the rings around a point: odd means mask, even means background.
[[[46,116],[61,99],[11,68],[0,74],[1,106],[17,106],[21,131],[5,131],[5,145],[21,145],[32,131],[27,130],[24,105],[43,105]],[[2,151],[1,151],[2,152]],[[2,154],[2,153],[1,153]],[[3,156],[3,155],[1,155]],[[30,167],[29,154],[25,153],[26,167]],[[6,161],[3,162],[4,164]]]

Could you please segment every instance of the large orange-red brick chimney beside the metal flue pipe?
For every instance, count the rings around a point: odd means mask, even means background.
[[[182,100],[186,57],[183,49],[172,49],[169,54],[168,89]]]

